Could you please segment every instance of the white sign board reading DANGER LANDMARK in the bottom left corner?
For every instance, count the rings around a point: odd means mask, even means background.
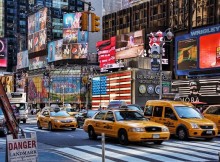
[[[37,162],[37,138],[36,132],[31,138],[13,139],[7,136],[8,162]]]

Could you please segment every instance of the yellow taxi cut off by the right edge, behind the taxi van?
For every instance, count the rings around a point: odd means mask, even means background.
[[[217,125],[218,132],[220,133],[220,105],[210,105],[204,110],[203,115]]]

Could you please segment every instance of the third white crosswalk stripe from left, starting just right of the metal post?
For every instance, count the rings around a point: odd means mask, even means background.
[[[161,159],[163,159],[164,161],[175,161],[175,162],[181,162],[181,160],[174,160],[172,158],[168,158],[168,157],[164,157],[164,156],[161,156],[161,155],[155,155],[153,153],[147,153],[147,152],[144,152],[144,151],[149,151],[149,149],[145,148],[143,149],[142,151],[139,151],[139,147],[138,148],[133,148],[133,149],[129,149],[129,148],[126,148],[126,147],[120,147],[120,146],[114,146],[114,145],[106,145],[105,146],[106,148],[110,148],[110,149],[115,149],[115,150],[119,150],[121,152],[125,152],[125,153],[129,153],[129,154],[133,154],[133,155],[140,155],[140,156],[143,156],[143,157],[146,157],[146,158],[150,158],[150,159],[154,159],[154,160],[159,160],[161,161]],[[152,149],[152,148],[150,148]],[[153,151],[155,153],[155,151]]]

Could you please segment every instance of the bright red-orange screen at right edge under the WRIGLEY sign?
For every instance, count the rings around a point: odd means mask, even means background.
[[[199,67],[220,67],[220,33],[201,36],[199,39]]]

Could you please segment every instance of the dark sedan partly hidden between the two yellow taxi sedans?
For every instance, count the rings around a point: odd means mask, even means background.
[[[92,118],[97,112],[98,110],[87,110],[76,114],[75,118],[77,120],[78,128],[83,126],[85,119]]]

